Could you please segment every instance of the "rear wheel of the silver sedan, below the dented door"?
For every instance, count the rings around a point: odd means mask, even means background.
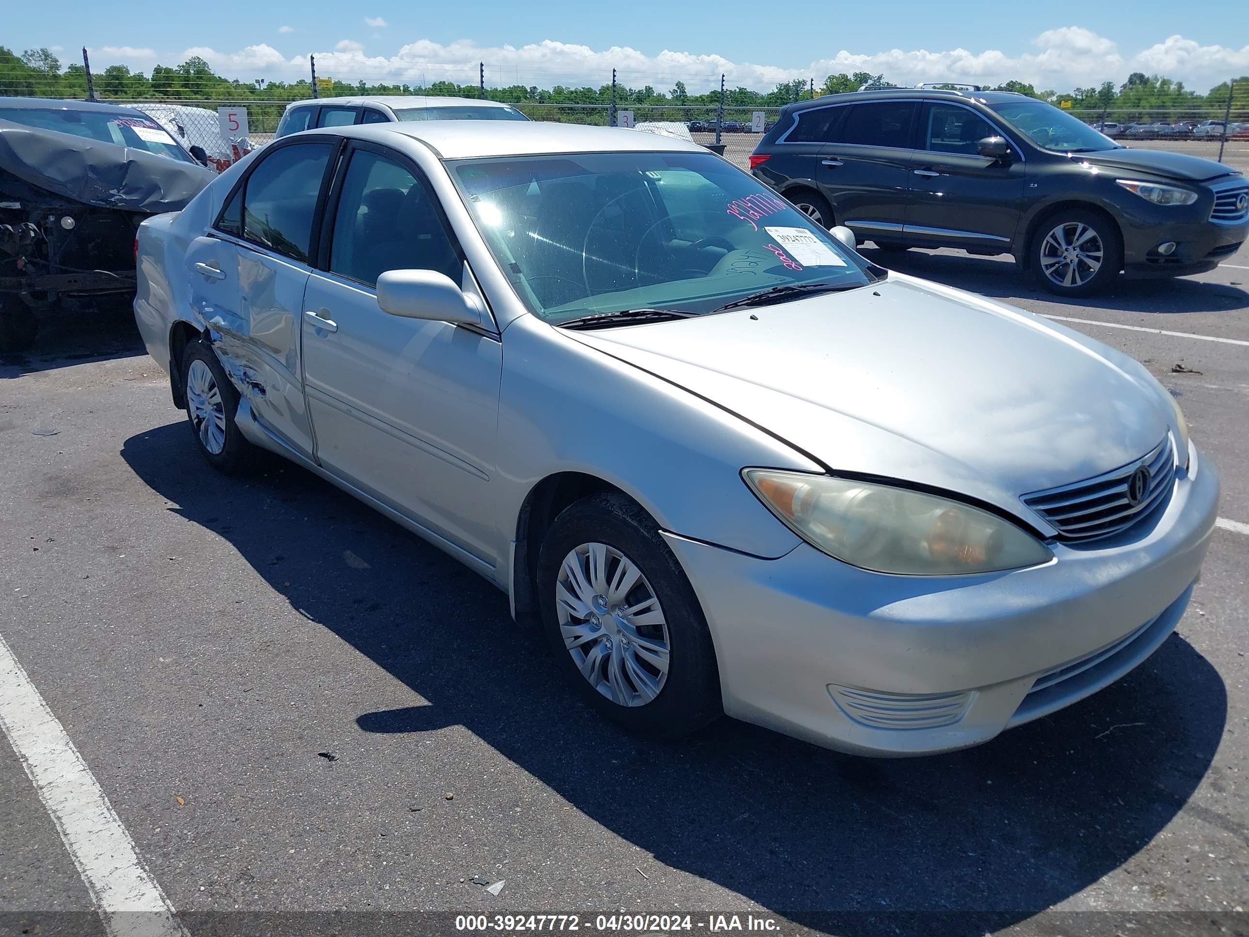
[[[216,352],[204,341],[190,342],[182,352],[182,387],[186,416],[205,461],[225,475],[250,471],[257,450],[235,424],[239,392]]]

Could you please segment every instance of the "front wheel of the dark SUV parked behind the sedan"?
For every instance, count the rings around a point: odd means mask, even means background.
[[[1092,211],[1055,215],[1033,239],[1032,269],[1059,296],[1100,292],[1118,276],[1123,250],[1114,224]]]

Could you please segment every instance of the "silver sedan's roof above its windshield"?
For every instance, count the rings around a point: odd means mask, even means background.
[[[360,124],[318,127],[304,134],[333,134],[392,144],[395,136],[420,140],[441,159],[475,156],[533,156],[571,152],[709,152],[698,144],[624,127],[581,124],[543,124],[503,120],[421,120],[405,124]],[[302,134],[292,134],[294,139]]]

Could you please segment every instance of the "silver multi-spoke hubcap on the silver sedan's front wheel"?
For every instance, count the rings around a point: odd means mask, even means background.
[[[582,543],[556,581],[560,633],[581,675],[621,706],[644,706],[668,678],[668,625],[642,571],[615,547]]]

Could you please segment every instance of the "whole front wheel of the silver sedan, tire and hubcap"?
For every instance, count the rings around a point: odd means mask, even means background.
[[[556,666],[600,713],[664,738],[719,716],[707,621],[636,502],[602,493],[565,508],[542,541],[537,587]]]

